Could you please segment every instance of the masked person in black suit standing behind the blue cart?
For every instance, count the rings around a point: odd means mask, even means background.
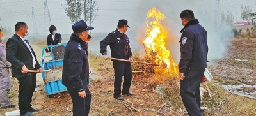
[[[47,45],[61,45],[61,34],[57,33],[57,28],[54,25],[49,27],[49,31],[51,34],[47,36]],[[49,48],[49,52],[51,49]]]

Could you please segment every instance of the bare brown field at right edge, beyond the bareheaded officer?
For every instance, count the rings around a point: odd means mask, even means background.
[[[223,59],[207,64],[209,71],[213,76],[234,80],[231,83],[224,82],[226,85],[234,85],[237,82],[256,85],[256,38],[235,38],[230,40],[230,43]]]

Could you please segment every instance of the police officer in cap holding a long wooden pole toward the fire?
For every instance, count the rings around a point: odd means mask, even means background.
[[[109,59],[107,55],[107,46],[110,46],[111,57],[118,59],[127,59],[130,62],[113,61],[113,68],[115,71],[115,82],[114,82],[114,98],[124,100],[121,96],[121,83],[122,77],[124,76],[122,94],[126,96],[134,96],[129,91],[132,80],[132,68],[131,63],[132,52],[130,48],[130,41],[128,36],[125,34],[129,27],[128,21],[125,19],[119,20],[117,29],[112,33],[109,33],[104,40],[100,42],[100,53],[104,56],[104,59]]]

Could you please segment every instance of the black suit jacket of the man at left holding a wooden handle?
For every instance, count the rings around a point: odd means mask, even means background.
[[[24,77],[29,76],[31,73],[23,74],[21,72],[22,66],[26,66],[28,69],[33,69],[33,57],[29,48],[26,46],[22,38],[19,35],[14,34],[12,38],[9,38],[6,43],[6,59],[12,64],[12,76]],[[39,65],[35,52],[31,48],[33,55],[35,56],[35,69],[41,68]]]

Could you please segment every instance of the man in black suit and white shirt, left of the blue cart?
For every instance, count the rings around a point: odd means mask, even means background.
[[[28,73],[29,70],[42,68],[36,60],[36,55],[28,40],[28,25],[24,22],[17,22],[15,34],[9,38],[6,46],[6,59],[12,64],[12,76],[19,80],[19,109],[20,116],[33,116],[31,112],[37,112],[32,108],[31,101],[36,87],[36,73]]]

